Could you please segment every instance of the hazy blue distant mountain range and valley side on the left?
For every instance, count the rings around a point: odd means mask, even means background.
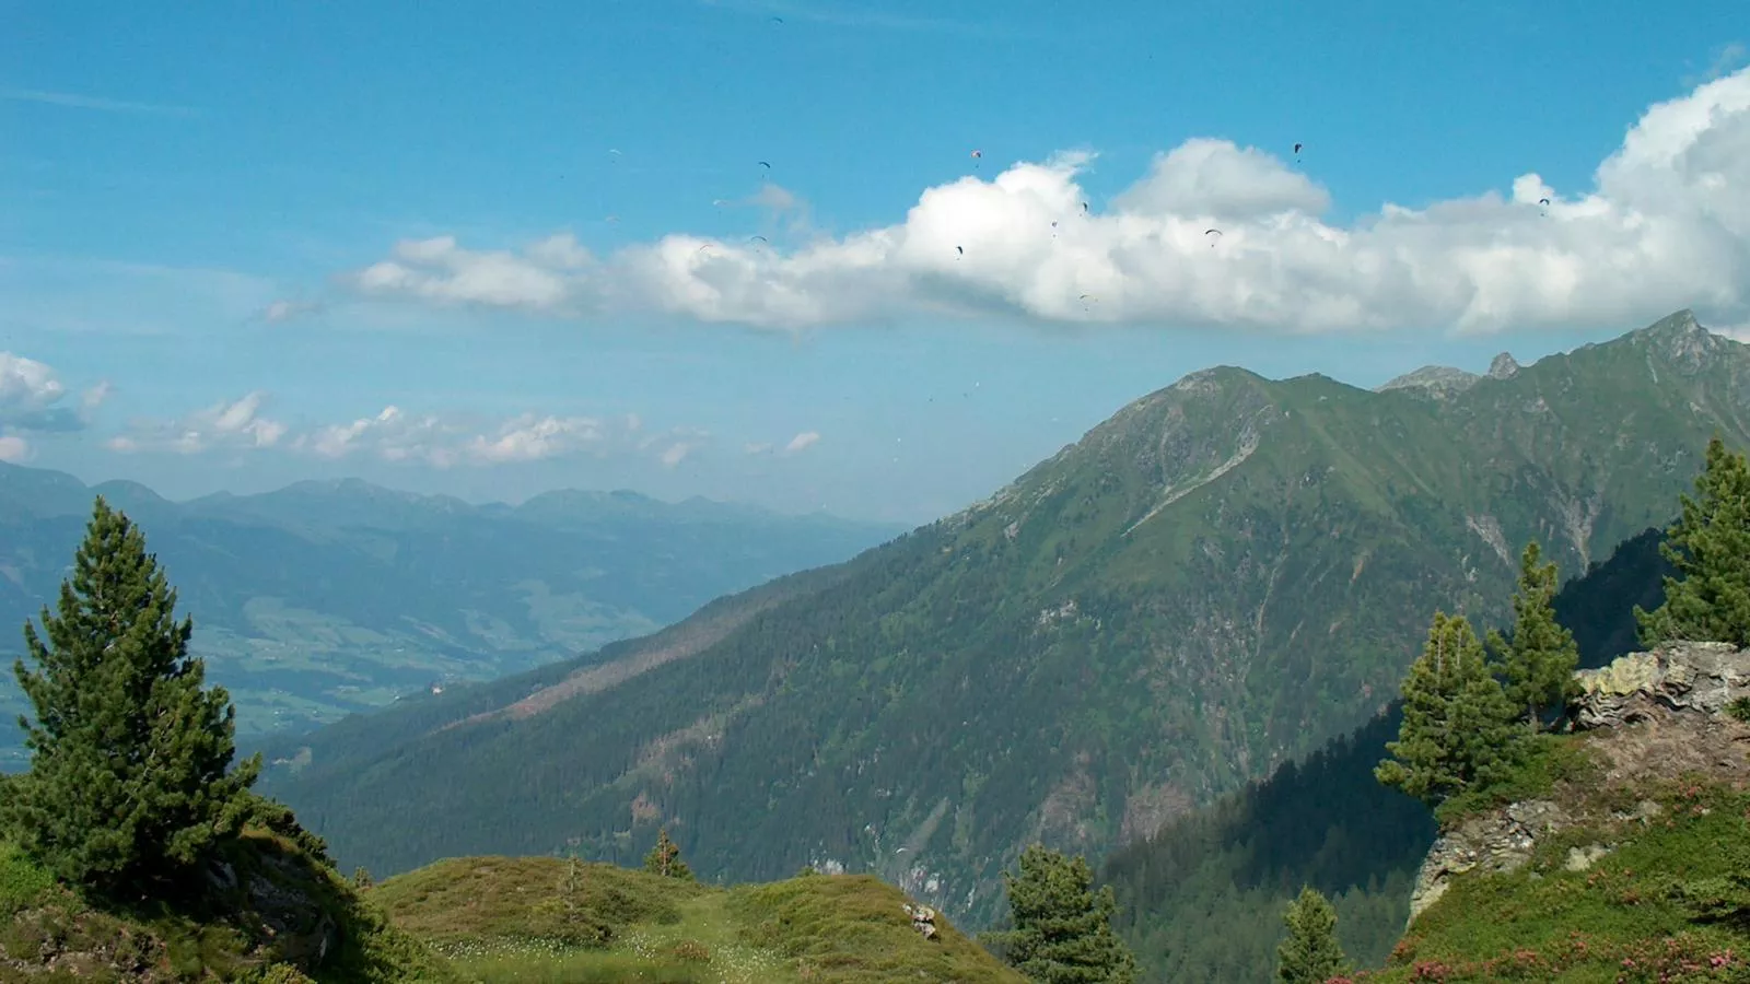
[[[142,524],[245,734],[570,658],[900,532],[634,492],[471,506],[359,480],[172,503],[130,481],[0,464],[7,665],[19,627],[58,595],[98,494]],[[4,674],[0,713],[10,720],[19,700]],[[16,732],[0,741],[16,767]]]

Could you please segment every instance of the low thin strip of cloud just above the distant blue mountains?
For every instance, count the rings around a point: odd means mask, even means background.
[[[648,450],[651,459],[672,467],[700,448],[705,438],[704,431],[690,429],[642,434],[637,415],[597,418],[522,413],[480,420],[410,413],[399,406],[385,406],[376,415],[345,424],[294,431],[289,424],[262,415],[264,403],[266,394],[252,392],[180,420],[135,422],[128,432],[112,438],[108,446],[117,452],[175,453],[285,448],[329,460],[368,457],[444,469]]]

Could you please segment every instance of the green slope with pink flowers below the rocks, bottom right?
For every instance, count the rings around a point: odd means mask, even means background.
[[[1640,798],[1661,812],[1617,819]],[[1750,793],[1703,779],[1594,784],[1578,805],[1591,821],[1542,840],[1519,870],[1454,879],[1391,965],[1356,980],[1750,979]],[[1568,870],[1568,851],[1591,844],[1617,847]]]

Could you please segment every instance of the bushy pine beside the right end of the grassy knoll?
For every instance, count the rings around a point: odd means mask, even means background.
[[[990,933],[1004,959],[1040,984],[1132,984],[1136,956],[1111,928],[1111,886],[1094,891],[1085,858],[1034,844],[1020,874],[1003,872],[1013,930]]]

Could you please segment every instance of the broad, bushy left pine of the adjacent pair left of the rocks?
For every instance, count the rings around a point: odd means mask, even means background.
[[[1524,737],[1514,716],[1470,620],[1437,611],[1423,655],[1404,678],[1398,741],[1386,742],[1391,758],[1374,777],[1428,805],[1489,784],[1512,765]]]

